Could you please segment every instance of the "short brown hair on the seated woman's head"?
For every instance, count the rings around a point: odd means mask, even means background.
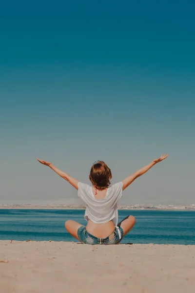
[[[89,174],[89,180],[98,190],[109,187],[111,179],[111,169],[103,161],[98,161],[93,164]]]

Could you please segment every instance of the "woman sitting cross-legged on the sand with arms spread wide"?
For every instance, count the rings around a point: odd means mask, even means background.
[[[84,244],[108,245],[119,244],[136,222],[134,216],[128,216],[117,225],[117,202],[122,195],[122,191],[136,178],[167,157],[167,154],[162,154],[160,158],[153,160],[152,163],[111,186],[112,173],[103,161],[98,161],[98,163],[91,167],[89,179],[92,186],[79,182],[77,179],[53,166],[52,163],[39,159],[38,161],[53,169],[59,176],[78,189],[78,196],[86,204],[84,217],[88,221],[87,226],[85,227],[75,221],[68,220],[65,222],[66,230]]]

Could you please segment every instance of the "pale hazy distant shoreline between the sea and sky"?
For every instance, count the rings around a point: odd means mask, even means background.
[[[0,205],[0,209],[85,209],[84,206],[71,206],[71,205]],[[120,210],[194,210],[195,205],[190,206],[164,206],[164,205],[132,205],[125,206],[119,205],[118,209]]]

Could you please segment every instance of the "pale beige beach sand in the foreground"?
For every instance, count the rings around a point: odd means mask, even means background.
[[[195,246],[0,241],[0,293],[72,292],[195,293]]]

